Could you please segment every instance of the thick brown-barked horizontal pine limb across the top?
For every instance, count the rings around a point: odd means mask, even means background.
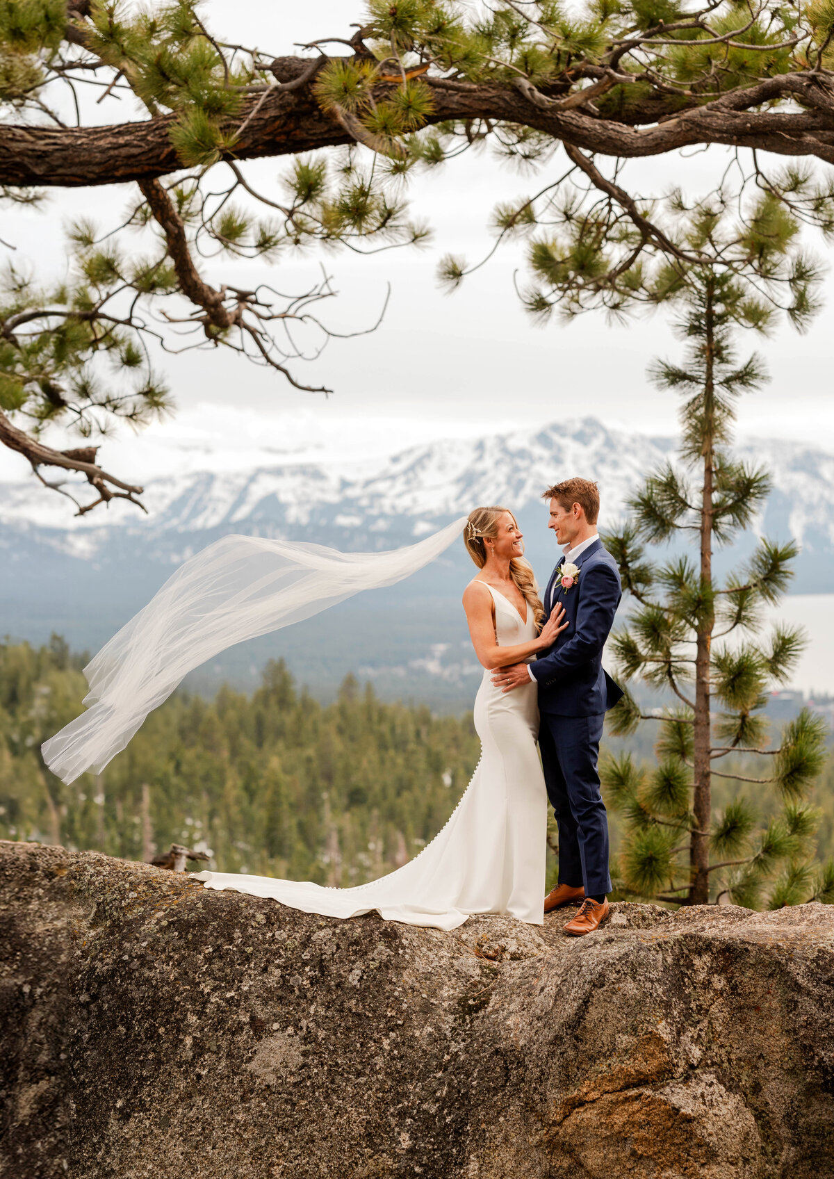
[[[810,72],[768,78],[706,105],[674,111],[657,98],[616,118],[582,110],[541,108],[515,87],[452,84],[425,77],[433,112],[428,123],[494,119],[517,123],[589,152],[636,158],[720,143],[780,156],[816,156],[834,163],[834,99]],[[450,88],[454,86],[455,88]],[[380,87],[380,94],[385,90]],[[793,95],[806,110],[753,110]],[[260,106],[256,106],[260,101]],[[661,120],[654,126],[640,123]],[[171,144],[176,116],[99,127],[0,125],[0,184],[86,187],[150,180],[184,165]],[[230,158],[289,156],[349,144],[352,137],[318,106],[310,83],[265,100],[250,99]],[[234,124],[229,125],[233,130]]]

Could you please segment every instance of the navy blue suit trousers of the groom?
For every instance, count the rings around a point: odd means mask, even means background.
[[[604,719],[604,713],[542,712],[538,732],[548,798],[558,825],[558,883],[582,884],[585,896],[611,891],[608,816],[597,772]]]

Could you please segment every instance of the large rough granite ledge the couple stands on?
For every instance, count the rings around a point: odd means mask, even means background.
[[[339,922],[0,845],[0,1174],[834,1174],[834,907]]]

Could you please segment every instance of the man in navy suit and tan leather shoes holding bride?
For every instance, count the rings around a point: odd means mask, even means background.
[[[598,929],[608,916],[608,819],[597,759],[605,712],[623,693],[603,671],[602,648],[622,587],[616,561],[597,535],[596,483],[565,479],[542,499],[550,501],[548,527],[564,549],[548,582],[544,612],[549,617],[563,608],[569,625],[535,663],[503,667],[492,683],[504,692],[531,678],[538,684],[538,747],[558,824],[558,884],[544,898],[544,911],[582,901],[564,927],[577,936]]]

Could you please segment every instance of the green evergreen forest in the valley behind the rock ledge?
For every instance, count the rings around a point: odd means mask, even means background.
[[[58,637],[40,648],[0,644],[0,838],[145,861],[177,842],[210,851],[219,871],[360,884],[432,838],[479,755],[471,713],[384,704],[352,677],[322,705],[271,663],[251,697],[174,693],[104,773],[66,786],[44,766],[40,744],[81,711],[86,661]],[[631,746],[651,757],[644,738]],[[719,792],[726,805],[735,791]],[[830,763],[812,801],[825,859],[834,854]],[[548,881],[555,875],[550,849]]]

